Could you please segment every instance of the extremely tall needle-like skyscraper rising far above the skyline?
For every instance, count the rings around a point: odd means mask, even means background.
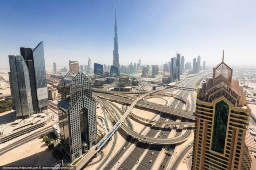
[[[115,36],[114,36],[114,50],[113,50],[113,66],[117,67],[118,74],[120,74],[120,64],[119,64],[119,54],[118,54],[118,39],[117,39],[116,11],[115,11]]]

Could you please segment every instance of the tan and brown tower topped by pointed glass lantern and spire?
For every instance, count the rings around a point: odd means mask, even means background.
[[[251,109],[223,59],[198,89],[192,170],[241,170]]]

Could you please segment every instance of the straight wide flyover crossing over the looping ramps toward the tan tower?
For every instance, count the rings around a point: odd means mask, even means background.
[[[126,103],[126,104],[132,104],[133,101],[134,101],[134,100],[129,99],[129,98],[113,96],[113,95],[110,95],[110,94],[94,93],[94,95],[98,96],[98,97],[101,97],[101,98],[108,98],[110,100],[118,101],[120,103]],[[144,95],[142,95],[142,96],[144,96]],[[175,115],[175,116],[184,117],[186,119],[195,120],[195,116],[193,116],[193,112],[191,112],[191,111],[177,109],[177,108],[162,105],[162,104],[151,103],[151,102],[148,102],[148,101],[143,101],[143,100],[141,100],[143,98],[141,96],[139,98],[137,98],[135,100],[135,101],[138,101],[138,102],[135,103],[135,105],[138,106],[138,107],[152,109],[152,110],[156,110],[156,111],[159,111],[159,112],[164,112],[164,113],[169,113],[169,114],[172,114],[172,115]]]

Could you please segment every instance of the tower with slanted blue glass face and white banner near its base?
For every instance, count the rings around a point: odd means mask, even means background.
[[[46,85],[44,43],[40,42],[34,49],[20,48],[20,55],[29,69],[29,81],[34,113],[41,113],[48,108]]]

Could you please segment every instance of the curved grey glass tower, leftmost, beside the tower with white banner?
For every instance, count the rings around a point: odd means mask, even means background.
[[[17,118],[29,118],[33,112],[29,69],[22,56],[9,55],[9,80],[12,105]]]

